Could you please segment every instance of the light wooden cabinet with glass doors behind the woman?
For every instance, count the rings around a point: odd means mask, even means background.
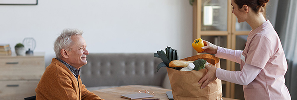
[[[251,27],[247,22],[238,23],[232,14],[231,0],[194,0],[193,40],[202,38],[215,45],[243,50]],[[193,49],[193,55],[197,55]],[[220,59],[221,68],[240,70],[239,64]],[[244,99],[241,85],[222,81],[223,97]]]

